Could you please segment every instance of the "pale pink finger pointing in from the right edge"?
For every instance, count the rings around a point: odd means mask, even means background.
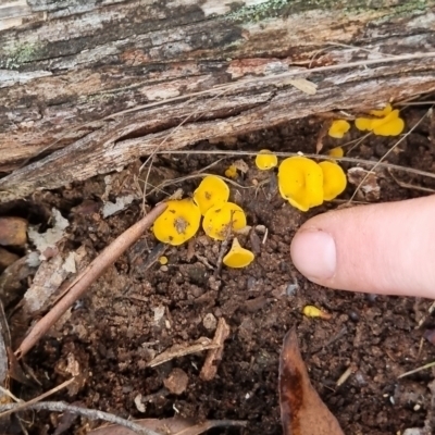
[[[435,195],[319,214],[290,253],[325,287],[435,299]]]

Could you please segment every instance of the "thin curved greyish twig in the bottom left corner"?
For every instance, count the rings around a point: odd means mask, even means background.
[[[144,427],[133,421],[122,419],[121,417],[110,414],[109,412],[76,407],[74,405],[64,403],[62,401],[41,401],[39,403],[26,402],[23,406],[25,409],[33,409],[35,411],[71,412],[72,414],[82,415],[89,420],[104,420],[109,423],[114,423],[127,427],[130,431],[134,431],[136,434],[161,435],[158,432]],[[2,405],[0,406],[0,411],[7,411],[8,413],[22,411],[24,409],[23,406],[17,403]]]

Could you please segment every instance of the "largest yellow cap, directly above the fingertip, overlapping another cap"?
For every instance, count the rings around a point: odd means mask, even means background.
[[[311,159],[290,157],[278,167],[281,196],[301,211],[323,202],[323,172]]]

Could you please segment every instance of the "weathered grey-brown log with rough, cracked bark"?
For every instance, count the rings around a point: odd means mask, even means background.
[[[434,5],[3,0],[0,202],[156,149],[433,91]]]

